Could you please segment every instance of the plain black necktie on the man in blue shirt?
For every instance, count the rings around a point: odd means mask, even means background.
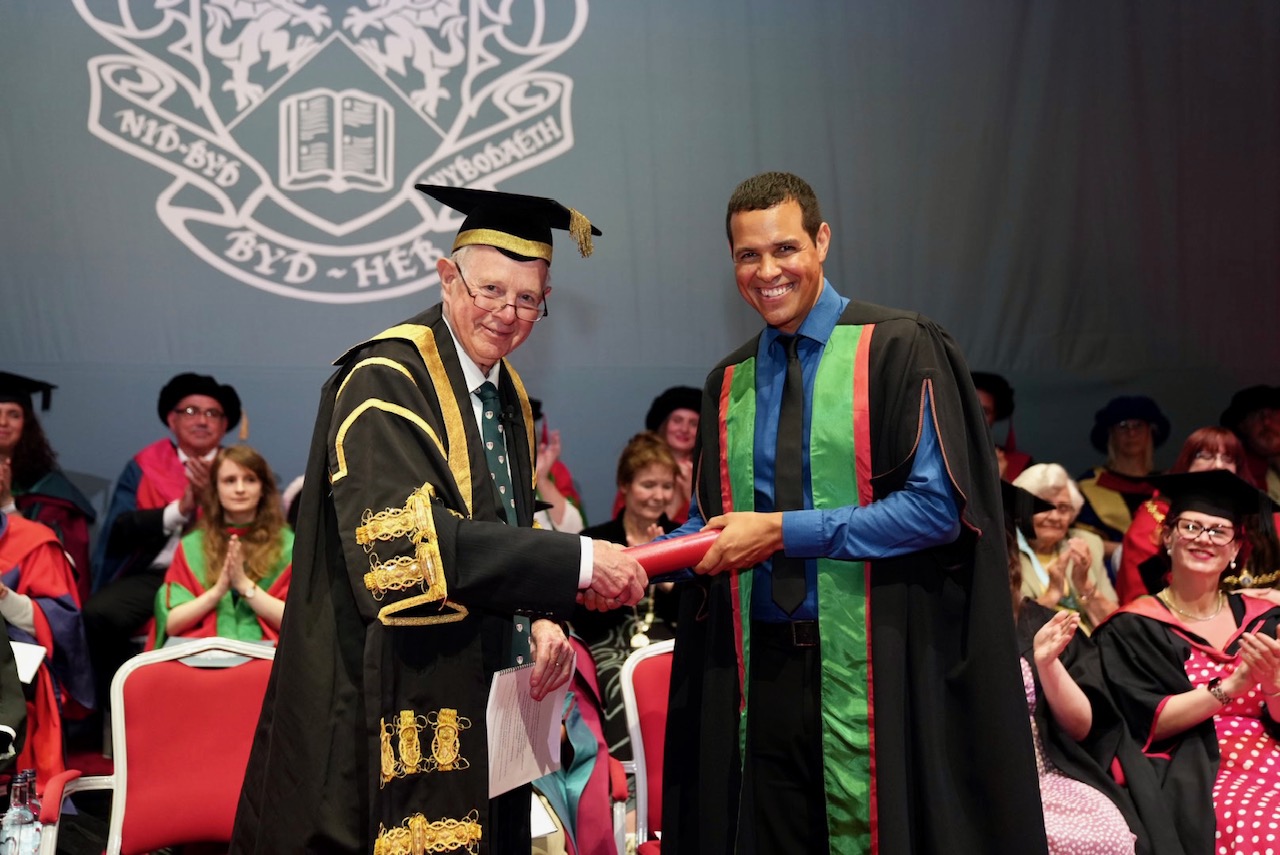
[[[787,380],[778,410],[778,447],[773,457],[773,509],[804,509],[804,371],[796,348],[800,338],[780,335],[787,352]],[[804,603],[804,559],[773,554],[773,602],[787,614]]]

